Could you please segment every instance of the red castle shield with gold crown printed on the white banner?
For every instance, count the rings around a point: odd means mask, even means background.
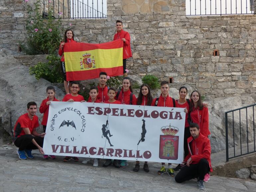
[[[164,135],[160,135],[159,158],[177,160],[179,136],[176,136],[176,134],[179,129],[170,124],[169,126],[161,127],[161,131]]]

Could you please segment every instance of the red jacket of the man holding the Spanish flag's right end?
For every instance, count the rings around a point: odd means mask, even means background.
[[[130,38],[130,34],[126,31],[121,30],[121,32],[117,32],[114,35],[114,40],[118,40],[118,39],[125,39],[124,42],[124,47],[123,47],[123,59],[127,59],[132,57],[132,49],[131,49],[131,38]]]

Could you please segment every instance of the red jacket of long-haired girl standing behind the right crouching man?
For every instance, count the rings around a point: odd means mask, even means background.
[[[209,114],[208,108],[203,107],[202,110],[199,110],[199,107],[193,108],[192,112],[190,113],[192,123],[197,123],[200,128],[200,133],[205,137],[210,135],[209,131]]]

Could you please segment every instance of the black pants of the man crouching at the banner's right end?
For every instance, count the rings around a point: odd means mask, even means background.
[[[209,163],[205,158],[201,158],[199,163],[191,164],[189,167],[186,165],[181,168],[180,172],[176,175],[175,181],[182,183],[195,177],[199,177],[199,180],[204,179],[204,175],[210,170]]]

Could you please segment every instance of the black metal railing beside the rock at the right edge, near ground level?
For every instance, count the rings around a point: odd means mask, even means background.
[[[225,112],[226,161],[256,152],[255,106],[253,104]]]

